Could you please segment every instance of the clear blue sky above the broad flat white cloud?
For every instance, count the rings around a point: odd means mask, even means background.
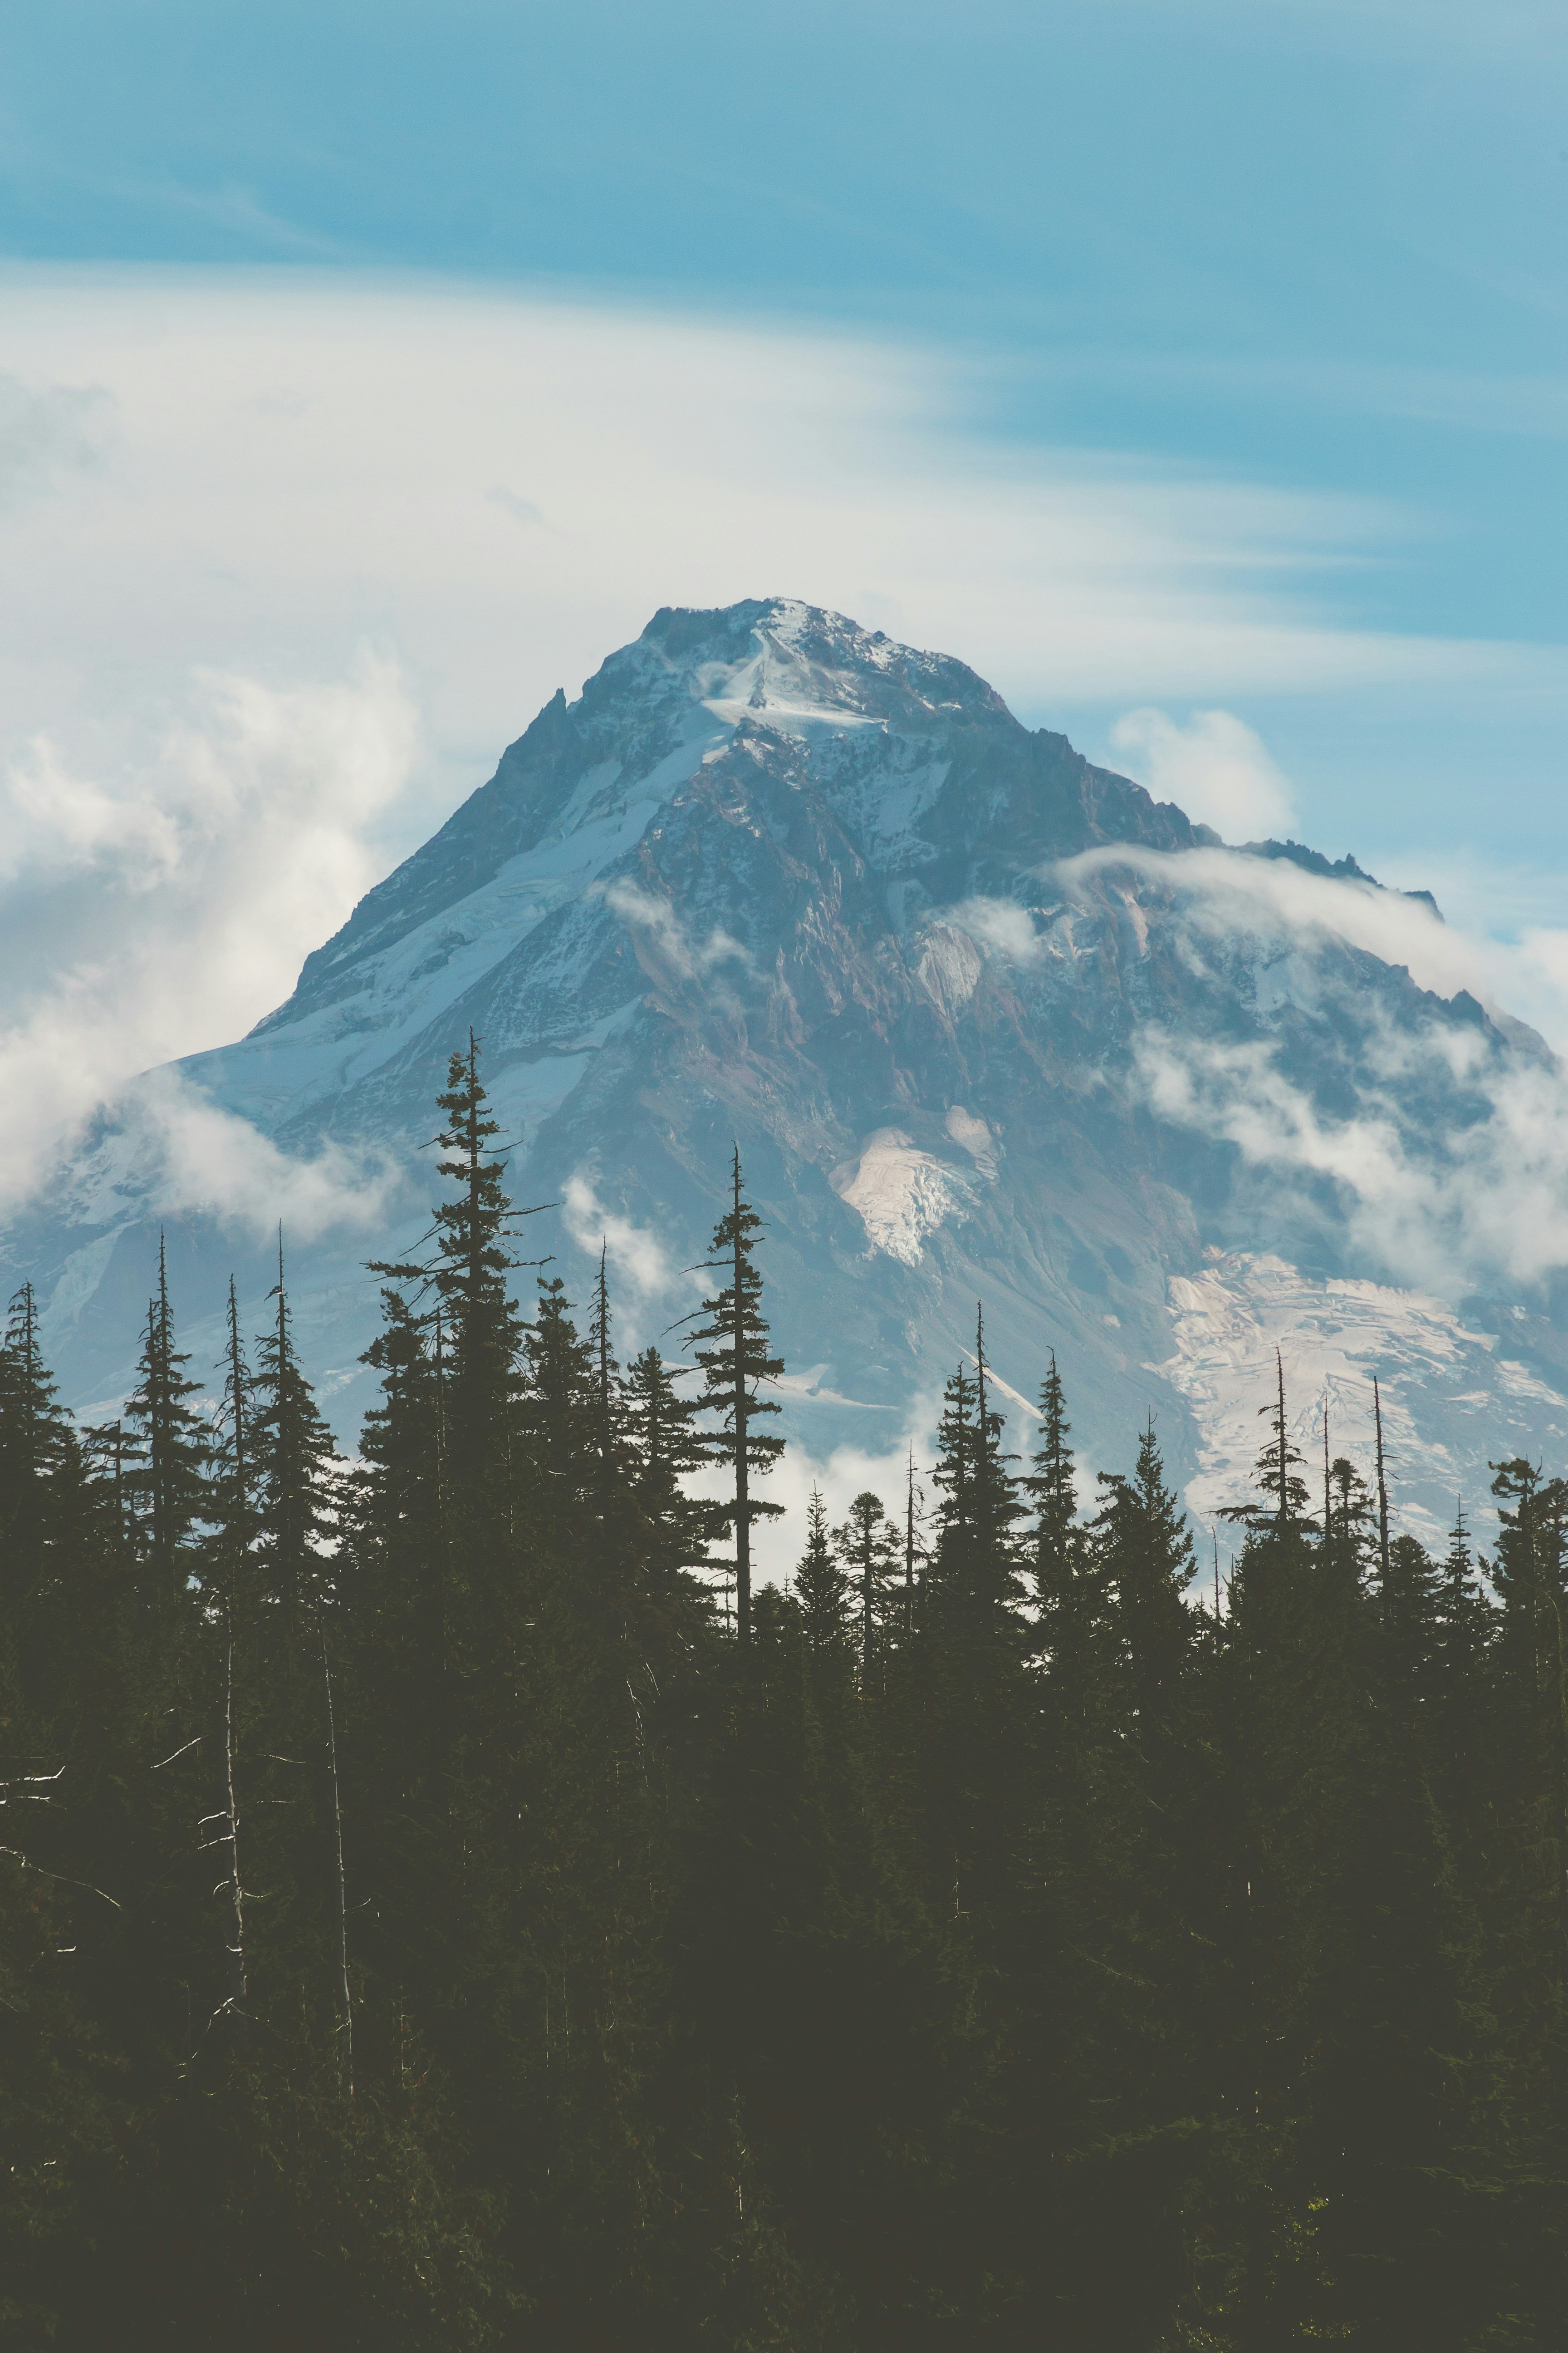
[[[0,240],[853,322],[994,365],[1001,445],[1387,508],[1352,628],[1556,645],[1568,19],[1509,0],[7,12]],[[1333,715],[1267,713],[1312,776]],[[1561,706],[1502,725],[1535,807]],[[1420,732],[1420,713],[1368,713]],[[1455,741],[1458,739],[1458,741]],[[1462,758],[1455,760],[1455,751]],[[1328,776],[1326,807],[1338,814]]]

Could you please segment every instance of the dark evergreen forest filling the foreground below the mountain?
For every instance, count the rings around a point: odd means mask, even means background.
[[[282,1257],[200,1381],[160,1271],[108,1428],[12,1304],[0,2341],[1568,2344],[1568,1482],[1432,1558],[1281,1379],[1220,1588],[1152,1424],[1086,1506],[1051,1360],[1006,1449],[978,1325],[766,1584],[741,1158],[621,1365],[473,1040],[440,1125],[353,1461]]]

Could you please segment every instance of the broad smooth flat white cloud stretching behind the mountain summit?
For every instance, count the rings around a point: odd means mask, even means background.
[[[369,628],[421,680],[449,800],[654,607],[759,593],[875,607],[1030,704],[1556,678],[1314,614],[1302,588],[1392,508],[999,452],[973,360],[306,271],[12,268],[5,315],[19,384],[101,384],[115,414],[110,464],[9,522],[24,734],[125,725],[190,661],[341,668]]]

